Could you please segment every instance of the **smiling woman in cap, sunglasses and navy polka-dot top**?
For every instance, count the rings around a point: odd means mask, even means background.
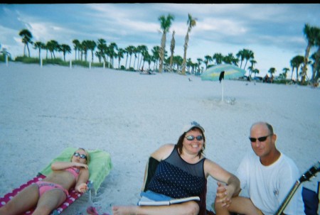
[[[149,199],[178,199],[185,197],[201,197],[206,191],[207,178],[228,184],[225,186],[225,195],[228,198],[240,192],[240,184],[237,177],[224,170],[217,163],[203,155],[206,148],[205,131],[195,121],[183,127],[181,136],[176,144],[162,145],[151,154],[149,159],[158,163],[156,172],[146,192],[141,195]],[[146,168],[147,172],[147,168]],[[144,180],[146,180],[146,175]],[[203,199],[201,199],[203,200]],[[203,201],[188,201],[168,206],[113,206],[114,215],[124,214],[206,214],[206,205]],[[225,199],[221,199],[225,202]]]

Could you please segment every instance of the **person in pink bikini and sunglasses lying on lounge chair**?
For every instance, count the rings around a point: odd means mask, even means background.
[[[46,215],[65,202],[68,190],[87,191],[90,154],[79,148],[70,162],[53,162],[50,173],[42,181],[31,184],[0,208],[0,215],[21,214],[36,206],[33,215]]]

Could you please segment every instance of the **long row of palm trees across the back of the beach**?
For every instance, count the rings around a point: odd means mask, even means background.
[[[159,16],[158,18],[161,27],[161,45],[155,45],[149,53],[146,45],[128,45],[126,48],[119,48],[116,43],[110,43],[107,45],[106,40],[100,38],[95,40],[82,40],[81,42],[77,39],[73,40],[73,49],[75,50],[75,60],[85,60],[87,62],[88,53],[91,53],[91,62],[93,62],[94,55],[97,57],[99,62],[105,62],[108,67],[114,68],[114,59],[118,60],[118,69],[122,70],[140,70],[143,68],[145,63],[149,65],[149,70],[156,70],[162,72],[163,70],[169,72],[181,72],[183,75],[187,72],[201,72],[201,66],[204,65],[206,69],[213,65],[219,65],[222,63],[228,63],[236,65],[243,70],[247,67],[249,70],[249,78],[251,78],[252,73],[260,73],[255,67],[257,61],[255,61],[255,55],[252,50],[242,49],[234,56],[233,53],[228,53],[228,55],[222,55],[221,53],[214,53],[213,55],[205,55],[203,58],[197,58],[197,62],[192,62],[191,58],[187,58],[187,49],[189,34],[191,29],[196,26],[197,18],[193,18],[191,14],[188,14],[187,26],[188,30],[185,37],[185,42],[183,45],[183,57],[179,55],[174,55],[175,49],[175,31],[172,33],[171,45],[170,45],[170,56],[166,51],[166,35],[169,33],[169,29],[174,21],[174,16],[169,14],[167,16]],[[317,82],[320,76],[319,68],[319,57],[320,57],[320,28],[316,26],[309,26],[305,24],[303,29],[304,36],[307,40],[307,46],[305,55],[297,55],[292,57],[290,60],[291,65],[291,79],[293,79],[293,74],[295,72],[296,81],[299,82],[299,77],[301,77],[300,82],[304,84],[306,82],[306,70],[307,65],[311,65],[311,78],[309,81]],[[28,57],[30,57],[30,50],[28,44],[33,45],[33,48],[38,50],[39,58],[41,57],[41,50],[46,50],[46,58],[48,58],[48,53],[50,53],[51,58],[55,58],[55,52],[63,53],[63,60],[65,60],[65,55],[71,53],[71,48],[66,44],[59,44],[55,40],[49,40],[46,44],[41,41],[33,42],[33,35],[27,29],[23,29],[19,32],[22,37],[22,43],[24,43],[23,56],[26,56],[26,49],[28,50]],[[315,53],[312,53],[309,57],[309,52],[312,47],[317,47]],[[134,62],[132,63],[132,55],[134,56]],[[120,68],[121,60],[125,57],[125,65]],[[129,59],[129,65],[128,65]],[[136,64],[137,62],[137,64]],[[151,63],[153,62],[154,67],[151,69]],[[239,65],[240,64],[240,65]],[[243,67],[242,67],[243,66]],[[299,71],[300,70],[300,71]],[[282,73],[279,77],[287,79],[287,73],[290,71],[289,68],[284,67]],[[270,76],[277,72],[274,67],[268,70]]]

